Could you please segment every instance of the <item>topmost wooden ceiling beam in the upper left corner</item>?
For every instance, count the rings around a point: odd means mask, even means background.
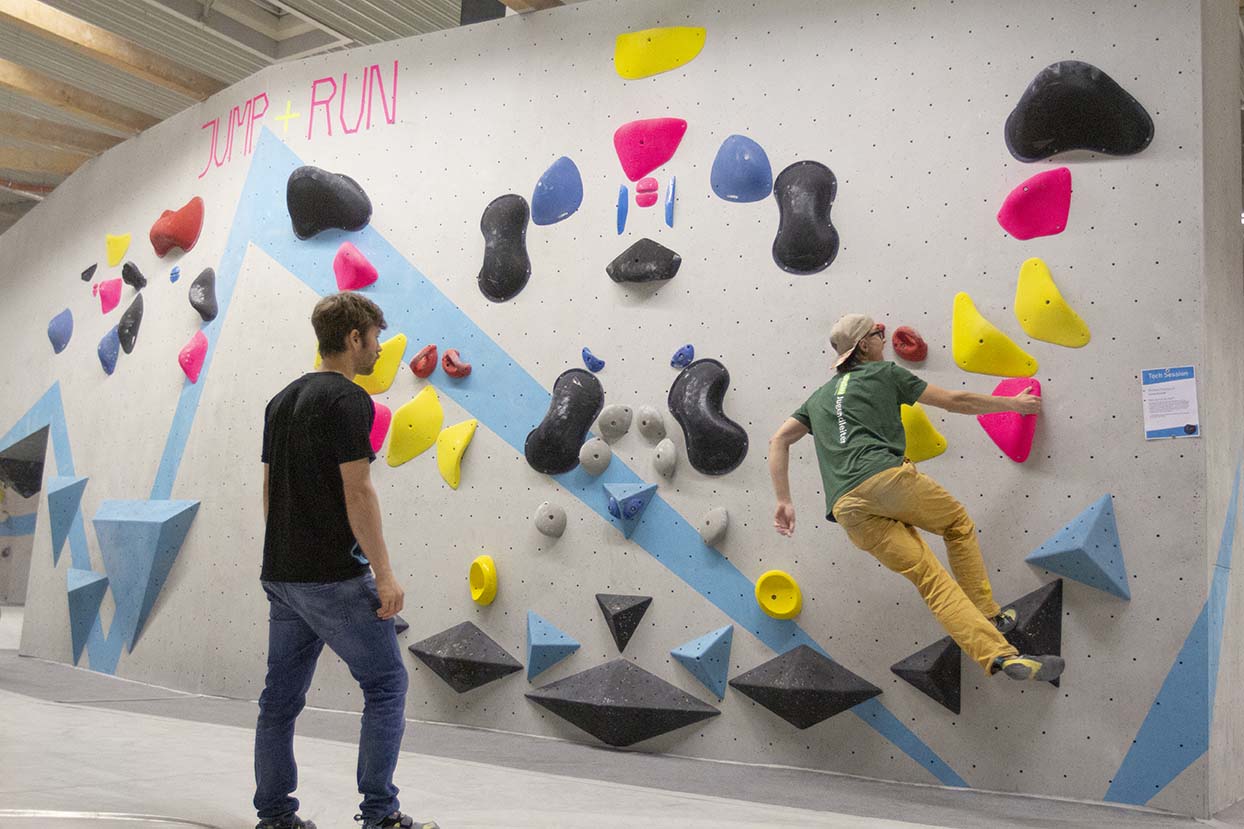
[[[67,46],[156,86],[203,101],[225,83],[39,0],[0,0],[0,24]]]

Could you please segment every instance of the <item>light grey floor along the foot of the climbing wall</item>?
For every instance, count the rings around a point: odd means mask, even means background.
[[[7,607],[0,611],[0,828],[174,825],[31,818],[14,813],[20,809],[254,825],[254,702],[185,695],[19,657],[4,650],[12,615]],[[355,825],[357,733],[353,713],[312,710],[299,721],[302,814],[320,829]],[[413,721],[403,748],[411,749],[398,764],[404,808],[435,818],[444,829],[1244,827],[1244,807],[1207,823]]]

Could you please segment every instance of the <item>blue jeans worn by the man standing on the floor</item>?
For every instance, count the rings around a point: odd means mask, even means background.
[[[393,620],[381,606],[368,573],[346,581],[265,581],[267,678],[255,726],[255,809],[260,820],[299,809],[294,721],[306,705],[316,660],[325,644],[346,662],[363,691],[358,736],[360,810],[377,819],[398,810],[393,769],[406,729],[407,672]]]

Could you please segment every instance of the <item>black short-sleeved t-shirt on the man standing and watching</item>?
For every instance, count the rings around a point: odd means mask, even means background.
[[[336,371],[302,375],[267,403],[265,581],[345,581],[368,566],[346,517],[340,464],[376,459],[372,398]]]

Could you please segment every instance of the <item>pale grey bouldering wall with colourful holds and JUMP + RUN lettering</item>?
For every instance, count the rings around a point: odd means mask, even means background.
[[[264,406],[348,288],[389,324],[360,382],[409,717],[1228,805],[1235,14],[591,0],[277,65],[119,144],[0,237],[0,458],[46,443],[22,653],[258,696]],[[810,439],[774,532],[768,439],[850,311],[938,386],[1042,395],[904,422],[1057,682],[963,658],[825,520]],[[361,695],[333,658],[310,701]]]

